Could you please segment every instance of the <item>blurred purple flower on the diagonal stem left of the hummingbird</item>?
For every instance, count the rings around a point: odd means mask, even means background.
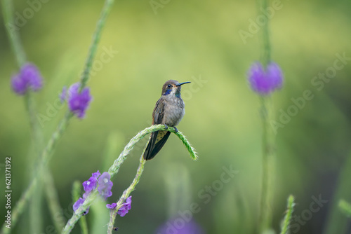
[[[80,83],[74,83],[69,87],[68,106],[78,118],[84,118],[92,97],[89,88],[84,88],[79,92],[79,86]]]

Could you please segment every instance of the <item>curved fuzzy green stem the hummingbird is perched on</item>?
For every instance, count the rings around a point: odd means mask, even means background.
[[[119,154],[119,157],[114,160],[113,165],[110,167],[108,172],[111,175],[111,178],[117,174],[119,171],[119,167],[121,167],[121,164],[124,163],[124,160],[126,160],[126,157],[128,154],[131,152],[135,144],[137,144],[141,139],[145,137],[145,135],[150,134],[151,132],[156,132],[159,130],[166,130],[164,125],[152,125],[149,128],[145,128],[143,131],[138,132],[135,137],[133,137],[128,144],[124,147],[124,150]],[[176,132],[175,128],[168,127],[167,129],[169,132]],[[197,160],[197,153],[195,152],[194,148],[190,145],[189,141],[187,138],[183,135],[182,132],[176,132],[176,135],[178,138],[183,142],[185,145],[185,148],[189,151],[190,156],[192,157],[193,160]],[[72,215],[71,219],[67,221],[65,228],[62,230],[62,234],[65,233],[70,233],[71,230],[74,228],[75,223],[79,220],[79,218],[84,214],[84,211],[88,209],[88,207],[91,205],[93,200],[95,200],[96,195],[98,195],[98,190],[95,188],[94,191],[92,191],[84,201],[84,203],[74,212]]]

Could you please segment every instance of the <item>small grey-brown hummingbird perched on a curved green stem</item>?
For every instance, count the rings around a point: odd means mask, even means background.
[[[176,125],[185,115],[185,104],[180,97],[180,90],[185,83],[190,82],[179,83],[178,81],[169,80],[164,83],[161,97],[156,102],[152,112],[152,125],[163,124],[166,129],[170,126],[178,132]],[[150,160],[154,158],[162,149],[170,134],[171,132],[167,130],[152,132],[144,152],[144,159]]]

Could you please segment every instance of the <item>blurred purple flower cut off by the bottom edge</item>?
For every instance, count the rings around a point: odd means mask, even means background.
[[[204,230],[193,220],[185,221],[183,218],[171,219],[157,230],[157,234],[204,234]]]

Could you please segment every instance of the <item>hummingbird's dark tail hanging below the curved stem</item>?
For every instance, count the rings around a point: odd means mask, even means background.
[[[144,159],[150,160],[154,158],[166,143],[169,135],[171,135],[171,132],[168,131],[152,132],[149,144],[147,144],[145,149]]]

